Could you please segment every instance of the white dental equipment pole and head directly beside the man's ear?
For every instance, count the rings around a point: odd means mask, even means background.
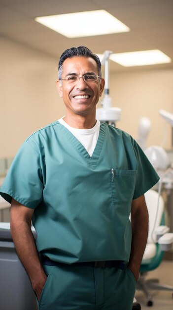
[[[119,107],[111,107],[112,100],[109,97],[109,56],[111,51],[105,51],[104,57],[102,59],[102,64],[104,64],[105,70],[105,88],[104,88],[104,99],[101,103],[103,107],[96,109],[96,118],[100,121],[109,123],[112,126],[115,126],[115,122],[120,120],[121,109]]]

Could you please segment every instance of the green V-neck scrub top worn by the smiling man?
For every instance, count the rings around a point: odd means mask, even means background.
[[[49,258],[125,260],[131,250],[132,200],[159,180],[137,142],[105,123],[93,155],[58,121],[22,145],[0,189],[35,209],[37,249]]]

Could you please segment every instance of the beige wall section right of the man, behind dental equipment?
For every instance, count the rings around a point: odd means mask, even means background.
[[[172,148],[172,127],[160,116],[159,109],[173,113],[173,70],[143,70],[116,73],[110,77],[112,105],[122,109],[117,127],[138,138],[138,122],[148,117],[151,129],[146,146],[161,145]]]

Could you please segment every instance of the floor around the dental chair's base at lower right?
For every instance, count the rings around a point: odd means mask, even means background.
[[[147,274],[147,279],[159,278],[159,282],[173,286],[173,261],[163,260],[161,265]],[[136,299],[141,305],[141,310],[173,310],[173,292],[150,290],[153,306],[146,306],[146,298],[142,291],[136,292]]]

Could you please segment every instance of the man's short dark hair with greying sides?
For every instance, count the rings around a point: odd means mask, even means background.
[[[63,73],[63,62],[70,57],[74,57],[74,56],[84,56],[84,57],[91,57],[93,58],[96,63],[97,63],[97,67],[98,67],[98,73],[100,76],[102,76],[102,65],[101,65],[101,61],[99,59],[99,56],[94,54],[93,52],[91,52],[88,48],[86,48],[85,46],[79,46],[78,48],[70,48],[66,51],[64,51],[60,57],[59,60],[59,64],[58,64],[58,77],[59,79],[62,76]]]

